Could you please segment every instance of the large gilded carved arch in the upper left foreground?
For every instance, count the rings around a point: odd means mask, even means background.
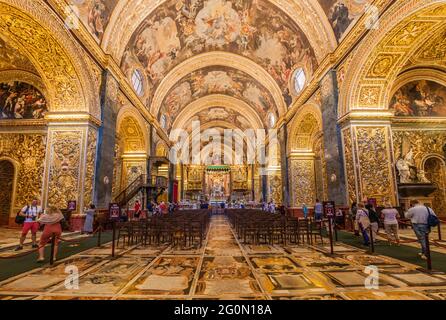
[[[36,67],[47,88],[51,111],[88,112],[99,119],[96,76],[89,58],[83,56],[55,12],[32,0],[4,0],[0,17],[0,36]]]

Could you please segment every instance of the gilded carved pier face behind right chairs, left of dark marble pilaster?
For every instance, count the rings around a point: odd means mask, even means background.
[[[303,203],[314,204],[316,200],[314,160],[291,159],[289,170],[292,205],[300,207]]]

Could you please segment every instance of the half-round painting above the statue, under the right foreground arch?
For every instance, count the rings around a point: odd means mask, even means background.
[[[446,87],[429,80],[409,82],[395,92],[390,109],[398,117],[446,117]]]

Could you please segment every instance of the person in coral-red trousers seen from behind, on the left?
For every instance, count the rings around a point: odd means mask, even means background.
[[[42,236],[40,237],[39,243],[39,258],[37,262],[45,261],[45,245],[51,241],[52,236],[56,236],[56,244],[54,246],[54,256],[53,260],[56,261],[57,257],[57,246],[59,238],[62,235],[62,227],[60,222],[64,219],[62,212],[55,207],[50,207],[47,213],[43,214],[39,219],[39,223],[45,225],[43,229]]]

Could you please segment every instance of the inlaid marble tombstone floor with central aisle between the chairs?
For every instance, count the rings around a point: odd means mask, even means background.
[[[214,216],[202,248],[94,248],[0,283],[0,299],[446,300],[446,275],[342,243],[242,245]],[[76,267],[79,287],[67,278]],[[368,266],[376,266],[372,281]],[[378,287],[367,289],[365,284]]]

